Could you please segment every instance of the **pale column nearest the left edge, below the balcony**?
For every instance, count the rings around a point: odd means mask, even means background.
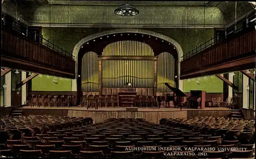
[[[6,106],[12,106],[12,72],[5,75],[6,83]]]

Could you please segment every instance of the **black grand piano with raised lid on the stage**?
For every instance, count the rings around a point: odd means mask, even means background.
[[[170,86],[168,83],[164,83],[171,91],[171,93],[162,94],[162,96],[157,97],[158,106],[161,106],[161,102],[164,102],[165,107],[169,106],[169,102],[173,101],[175,107],[180,105],[182,102],[181,97],[186,97],[186,95],[178,88]]]

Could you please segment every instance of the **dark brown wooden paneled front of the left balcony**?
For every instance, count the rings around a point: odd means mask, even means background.
[[[48,67],[52,70],[67,72],[70,73],[69,75],[75,74],[75,60],[73,58],[62,55],[38,41],[7,29],[2,30],[2,39],[2,56],[4,57],[19,59]],[[72,78],[72,76],[70,77]]]

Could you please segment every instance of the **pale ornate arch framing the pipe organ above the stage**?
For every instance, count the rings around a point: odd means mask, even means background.
[[[177,52],[178,52],[178,77],[180,77],[180,62],[182,60],[183,57],[183,51],[182,48],[180,46],[180,44],[174,40],[173,38],[170,38],[168,36],[162,35],[160,33],[156,33],[153,31],[148,31],[148,30],[143,30],[143,29],[132,29],[132,28],[125,28],[125,29],[114,29],[114,30],[108,30],[108,31],[103,31],[103,32],[99,32],[96,34],[92,34],[90,36],[84,37],[83,39],[81,39],[74,47],[73,49],[73,56],[75,57],[75,61],[76,61],[76,79],[72,80],[72,91],[77,91],[77,78],[78,78],[78,53],[80,48],[87,43],[88,41],[94,39],[94,38],[98,38],[101,36],[105,36],[105,35],[110,35],[110,34],[118,34],[118,33],[138,33],[138,34],[145,34],[145,35],[151,35],[151,36],[155,36],[157,38],[163,39],[165,41],[168,41],[169,43],[172,43],[173,46],[176,48]],[[183,91],[183,80],[179,80],[179,89]]]

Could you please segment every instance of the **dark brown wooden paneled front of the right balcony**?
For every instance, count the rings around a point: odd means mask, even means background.
[[[250,27],[181,61],[181,76],[238,58],[254,55],[255,28]]]

